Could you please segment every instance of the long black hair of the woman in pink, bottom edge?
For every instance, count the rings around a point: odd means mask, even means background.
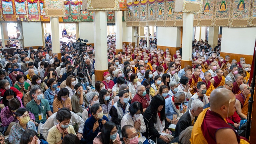
[[[96,138],[98,138],[102,144],[109,144],[110,133],[114,127],[116,127],[114,122],[111,122],[111,121],[106,122],[102,127],[101,134],[99,134]]]

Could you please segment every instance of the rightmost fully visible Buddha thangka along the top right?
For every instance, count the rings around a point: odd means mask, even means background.
[[[234,0],[232,3],[231,27],[247,27],[252,0]]]

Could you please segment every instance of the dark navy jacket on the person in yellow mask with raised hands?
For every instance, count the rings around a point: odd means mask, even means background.
[[[98,120],[99,127],[95,130],[95,132],[93,132],[93,126],[96,122],[94,116],[91,116],[85,121],[83,137],[87,141],[87,144],[93,144],[94,138],[96,138],[98,133],[101,132],[103,126],[103,124],[101,123],[102,120],[106,120],[107,122],[109,121],[109,119],[105,115],[103,115],[103,118]]]

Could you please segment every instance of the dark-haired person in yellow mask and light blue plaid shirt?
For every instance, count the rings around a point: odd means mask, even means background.
[[[30,129],[35,133],[37,132],[35,124],[30,121],[29,111],[26,108],[17,109],[17,111],[15,112],[15,116],[18,122],[13,125],[10,131],[9,142],[11,144],[20,143],[21,139],[23,139],[22,134],[27,129]]]

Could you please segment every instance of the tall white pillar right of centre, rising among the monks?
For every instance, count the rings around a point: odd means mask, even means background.
[[[183,13],[182,60],[190,61],[193,41],[193,13]],[[191,66],[191,65],[190,65]]]

